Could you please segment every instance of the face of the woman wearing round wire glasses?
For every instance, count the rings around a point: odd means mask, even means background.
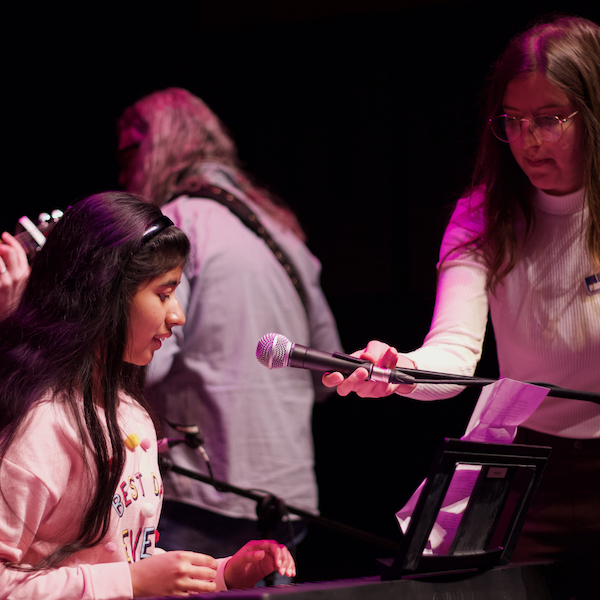
[[[568,117],[576,109],[567,95],[539,72],[515,77],[506,87],[504,112],[520,119],[539,115]],[[521,137],[510,142],[515,160],[531,184],[554,196],[563,196],[583,185],[583,123],[577,114],[563,124],[555,142],[540,140],[529,123],[522,123]]]

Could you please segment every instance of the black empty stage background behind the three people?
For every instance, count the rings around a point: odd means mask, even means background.
[[[115,124],[167,86],[201,96],[323,263],[347,351],[420,345],[454,200],[469,182],[479,94],[510,37],[600,2],[258,0],[4,9],[0,227],[117,187]],[[493,337],[480,366],[494,376]],[[324,516],[392,540],[394,513],[476,394],[436,403],[334,397],[314,434]],[[232,482],[235,483],[235,482]],[[389,553],[313,527],[302,580],[375,573]]]

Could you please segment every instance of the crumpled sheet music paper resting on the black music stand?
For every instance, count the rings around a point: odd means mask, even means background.
[[[540,405],[548,391],[547,388],[512,379],[500,379],[485,386],[461,440],[496,444],[512,443],[517,427]],[[444,554],[448,551],[480,468],[477,465],[457,465],[423,554]],[[424,485],[425,481],[396,513],[403,533],[408,529]]]

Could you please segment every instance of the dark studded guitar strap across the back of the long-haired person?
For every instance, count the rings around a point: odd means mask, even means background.
[[[211,200],[219,202],[223,206],[226,206],[234,215],[236,215],[240,221],[246,225],[246,227],[251,229],[258,237],[262,238],[275,255],[275,258],[281,263],[281,266],[285,269],[285,272],[289,275],[294,288],[300,296],[300,300],[302,301],[305,310],[307,309],[306,291],[302,284],[302,279],[296,271],[294,264],[279,246],[279,244],[277,244],[277,242],[271,237],[266,227],[261,224],[256,214],[245,202],[230,192],[227,192],[226,190],[215,185],[203,185],[194,190],[177,192],[177,196],[183,195],[192,196],[194,198],[210,198]]]

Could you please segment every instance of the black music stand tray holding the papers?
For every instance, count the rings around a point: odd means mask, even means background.
[[[383,580],[478,571],[509,562],[551,448],[446,439],[396,556],[380,559]],[[446,554],[423,555],[457,465],[481,470]]]

